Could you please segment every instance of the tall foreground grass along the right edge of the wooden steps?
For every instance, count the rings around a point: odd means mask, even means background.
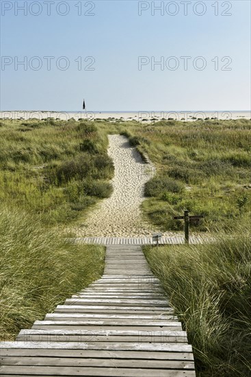
[[[187,330],[196,376],[250,376],[250,228],[211,245],[144,247],[144,254]]]

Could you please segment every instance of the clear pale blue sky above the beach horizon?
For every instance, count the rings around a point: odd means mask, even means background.
[[[75,111],[83,98],[88,110],[250,109],[249,0],[190,0],[187,15],[182,1],[162,1],[163,15],[151,9],[161,1],[56,0],[51,15],[48,1],[26,1],[27,15],[18,8],[25,1],[0,2],[1,110]],[[50,71],[45,56],[55,57]],[[187,70],[182,56],[191,57]],[[199,56],[202,71],[193,65]],[[139,57],[146,57],[141,70]]]

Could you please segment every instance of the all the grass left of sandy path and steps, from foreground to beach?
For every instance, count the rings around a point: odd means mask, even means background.
[[[109,197],[107,136],[90,122],[0,123],[0,334],[21,328],[103,273],[103,247],[74,245],[64,227]]]

